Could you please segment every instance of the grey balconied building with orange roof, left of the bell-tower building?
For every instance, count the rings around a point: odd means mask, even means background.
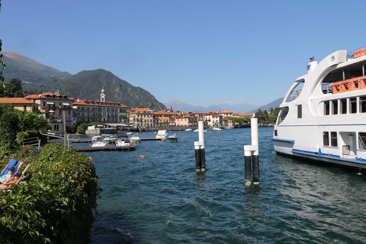
[[[32,103],[38,104],[37,112],[40,112],[51,124],[51,130],[63,133],[63,114],[66,111],[66,129],[72,131],[76,127],[75,117],[72,111],[72,98],[57,93],[44,92],[24,97]]]

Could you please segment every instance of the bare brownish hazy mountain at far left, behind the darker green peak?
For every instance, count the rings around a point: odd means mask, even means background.
[[[62,72],[44,64],[38,63],[36,60],[28,58],[17,52],[2,52],[3,61],[6,68],[3,71],[5,82],[12,78],[22,81],[40,82],[46,80],[51,75],[57,78],[67,78],[71,74]],[[39,87],[38,87],[39,89]]]

